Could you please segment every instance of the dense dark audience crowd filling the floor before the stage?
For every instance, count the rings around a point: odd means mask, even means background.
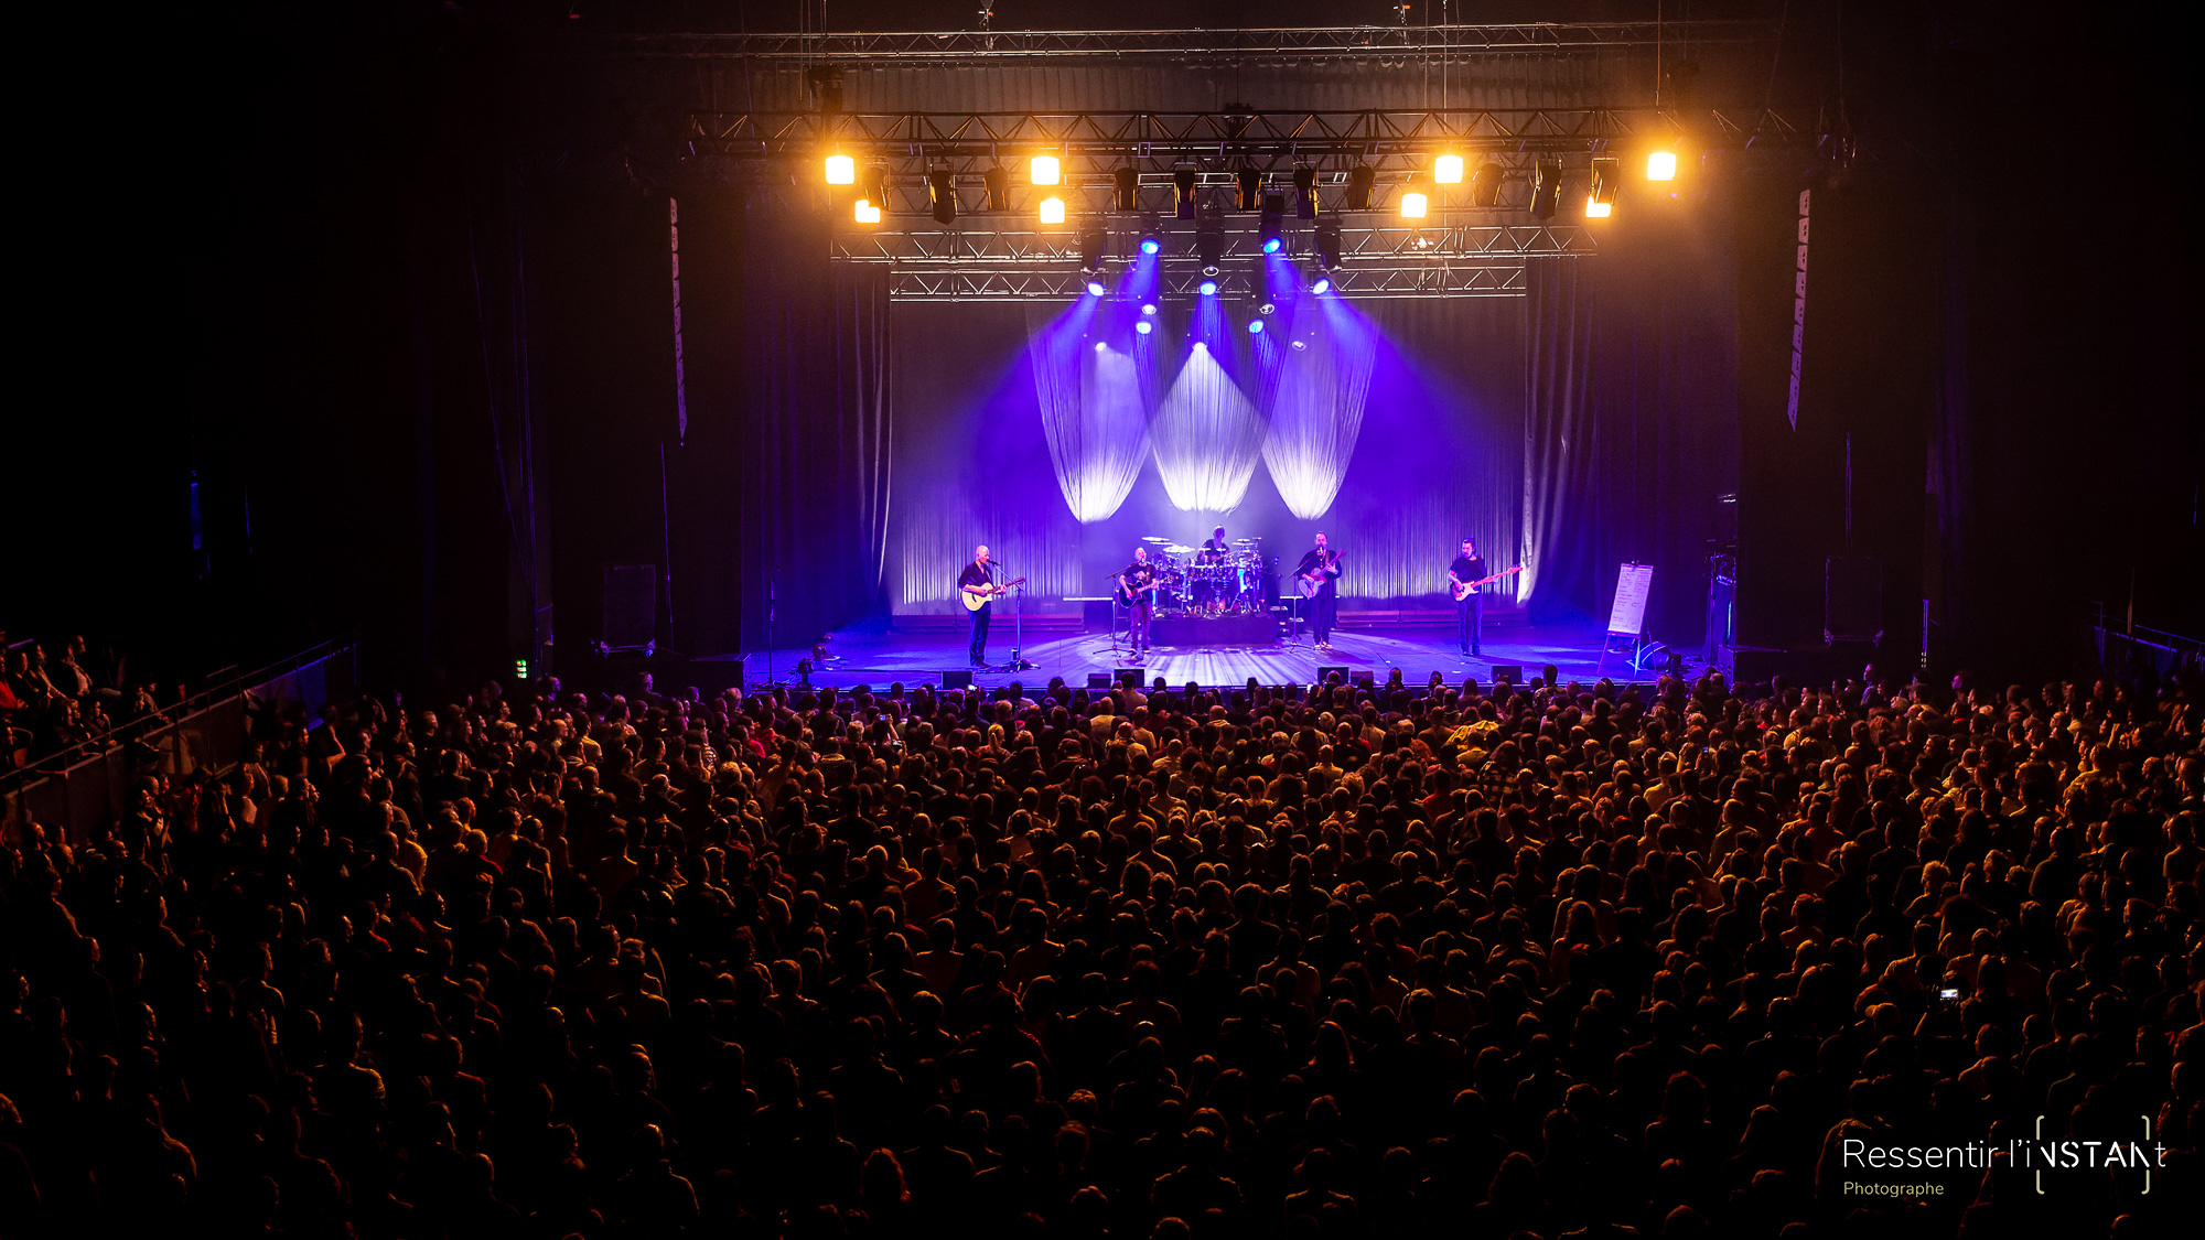
[[[2170,1233],[2198,688],[545,680],[269,717],[0,849],[0,1218]],[[2000,1145],[2132,1136],[2156,1178]]]

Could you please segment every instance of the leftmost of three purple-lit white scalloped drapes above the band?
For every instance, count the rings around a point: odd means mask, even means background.
[[[1028,322],[1034,397],[1050,466],[1065,507],[1080,523],[1105,521],[1149,459],[1149,415],[1131,353],[1109,346],[1096,298],[1080,298],[1054,322]]]

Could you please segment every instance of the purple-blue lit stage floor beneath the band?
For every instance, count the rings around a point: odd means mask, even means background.
[[[1047,684],[1050,677],[1063,677],[1067,684],[1085,684],[1094,673],[1109,675],[1122,666],[1140,666],[1144,682],[1162,675],[1171,686],[1182,686],[1188,680],[1204,686],[1244,684],[1248,677],[1261,684],[1312,684],[1319,666],[1345,666],[1349,677],[1372,675],[1380,682],[1394,669],[1400,669],[1402,677],[1411,684],[1427,682],[1433,671],[1444,675],[1449,684],[1460,684],[1462,677],[1477,677],[1484,684],[1493,680],[1493,669],[1504,664],[1521,664],[1526,677],[1539,675],[1544,664],[1555,664],[1566,680],[1588,682],[1596,669],[1603,669],[1601,633],[1594,624],[1488,627],[1486,633],[1484,653],[1477,658],[1462,658],[1455,646],[1453,627],[1343,627],[1332,631],[1332,651],[1316,651],[1305,640],[1299,644],[1259,642],[1200,649],[1155,646],[1144,662],[1133,664],[1122,646],[1111,646],[1107,633],[1030,631],[1023,651],[1025,662],[1034,664],[1030,671],[975,669],[972,684],[992,688],[1017,680],[1034,686]],[[942,673],[946,671],[966,671],[966,631],[961,627],[955,631],[935,627],[924,631],[836,633],[827,642],[827,649],[838,658],[831,658],[825,666],[814,666],[814,686],[831,684],[849,688],[867,684],[880,691],[893,682],[902,682],[904,688],[915,688],[919,684],[942,684]],[[747,669],[750,682],[759,684],[772,671],[783,684],[796,684],[796,662],[800,658],[809,658],[809,651],[776,651],[772,669],[767,669],[765,655],[754,653]],[[1010,624],[997,622],[988,658],[997,669],[1008,664]],[[1629,680],[1652,682],[1656,677],[1652,669],[1632,673],[1629,655],[1621,642],[1618,653],[1607,655],[1601,675],[1618,684]],[[666,677],[662,684],[670,686],[677,682]]]

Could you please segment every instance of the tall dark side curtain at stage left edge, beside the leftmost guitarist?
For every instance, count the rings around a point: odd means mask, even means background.
[[[831,263],[809,214],[717,194],[679,203],[688,435],[668,470],[673,640],[692,655],[811,644],[884,611],[886,269]]]

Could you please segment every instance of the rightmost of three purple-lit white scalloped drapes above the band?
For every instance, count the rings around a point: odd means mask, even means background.
[[[1378,340],[1360,316],[1334,300],[1297,316],[1292,333],[1294,349],[1277,362],[1263,468],[1286,510],[1312,521],[1332,507],[1347,479]]]

